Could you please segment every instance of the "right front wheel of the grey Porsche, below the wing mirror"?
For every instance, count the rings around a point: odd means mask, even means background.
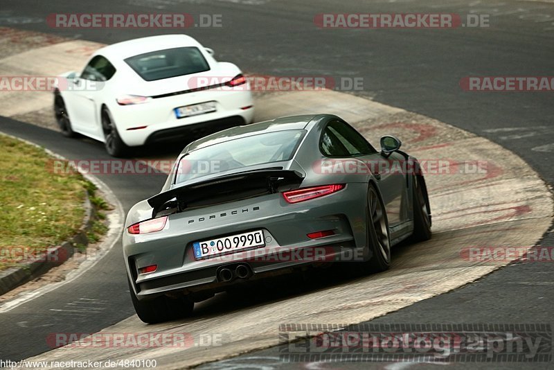
[[[414,243],[431,239],[431,207],[427,186],[422,175],[413,177],[413,234],[411,239]]]

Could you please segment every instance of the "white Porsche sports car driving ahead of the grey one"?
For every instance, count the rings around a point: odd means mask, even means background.
[[[54,110],[62,133],[102,141],[114,157],[129,146],[186,140],[253,120],[240,69],[217,62],[211,49],[186,35],[106,46],[81,73],[60,77]]]

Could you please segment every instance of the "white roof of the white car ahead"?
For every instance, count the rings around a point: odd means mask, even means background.
[[[94,55],[103,55],[108,60],[123,60],[134,55],[150,53],[150,51],[186,46],[202,47],[193,37],[187,35],[158,35],[111,44],[98,49]]]

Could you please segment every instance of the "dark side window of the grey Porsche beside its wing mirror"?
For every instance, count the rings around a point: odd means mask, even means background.
[[[331,121],[321,135],[321,152],[328,157],[355,157],[377,152],[364,136],[341,121]]]

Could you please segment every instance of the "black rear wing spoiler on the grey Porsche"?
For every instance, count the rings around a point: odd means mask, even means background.
[[[192,184],[179,186],[178,188],[172,188],[150,197],[148,199],[148,204],[150,204],[154,212],[156,212],[163,204],[166,204],[166,202],[174,198],[177,198],[178,201],[191,202],[211,194],[215,195],[220,193],[222,187],[224,187],[224,191],[230,192],[245,187],[267,185],[271,193],[276,193],[279,186],[300,184],[303,179],[304,175],[296,170],[275,168],[232,173],[204,181],[200,180]]]

